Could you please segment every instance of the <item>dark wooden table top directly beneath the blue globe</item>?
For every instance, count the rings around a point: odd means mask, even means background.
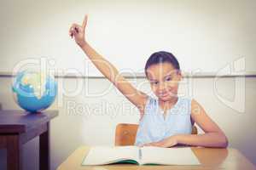
[[[49,122],[58,111],[28,113],[20,110],[0,111],[0,133],[25,133],[32,127]]]

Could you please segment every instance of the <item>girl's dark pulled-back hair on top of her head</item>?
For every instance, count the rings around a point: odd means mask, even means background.
[[[172,66],[177,71],[180,71],[178,61],[172,53],[169,53],[166,51],[159,51],[159,52],[155,52],[154,54],[151,54],[150,57],[148,58],[147,63],[145,65],[145,69],[144,69],[146,77],[148,77],[147,69],[150,65],[160,64],[164,62],[171,63]]]

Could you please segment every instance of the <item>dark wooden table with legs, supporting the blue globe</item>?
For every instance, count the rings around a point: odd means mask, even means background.
[[[49,170],[49,121],[57,115],[58,111],[0,111],[0,148],[7,149],[8,170],[22,169],[22,144],[37,136],[40,170]]]

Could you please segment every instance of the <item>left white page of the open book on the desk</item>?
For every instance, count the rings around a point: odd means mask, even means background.
[[[117,161],[139,162],[137,146],[95,146],[91,147],[82,165],[104,165]]]

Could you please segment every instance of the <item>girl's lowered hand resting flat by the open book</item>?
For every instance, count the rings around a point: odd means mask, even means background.
[[[172,147],[177,144],[177,136],[171,136],[169,138],[160,140],[158,142],[152,142],[148,144],[143,144],[143,146],[157,146],[157,147]]]

